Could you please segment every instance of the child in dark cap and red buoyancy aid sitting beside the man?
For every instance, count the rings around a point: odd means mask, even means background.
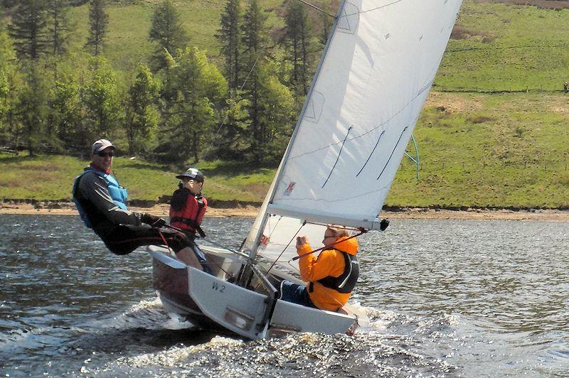
[[[177,175],[181,181],[179,188],[172,194],[170,201],[170,225],[183,229],[188,237],[196,237],[206,234],[201,229],[203,215],[208,208],[208,200],[201,194],[203,188],[203,173],[196,168],[188,168],[188,171]],[[206,255],[194,244],[192,247],[182,249],[176,256],[182,261],[189,263],[196,268],[211,273]]]

